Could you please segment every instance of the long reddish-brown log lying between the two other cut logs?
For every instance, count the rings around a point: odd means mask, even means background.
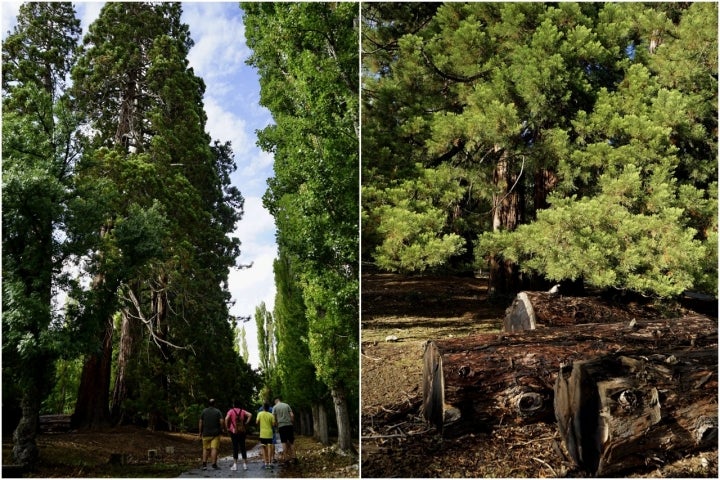
[[[609,353],[709,346],[717,346],[717,322],[702,315],[428,341],[422,412],[448,435],[508,421],[554,421],[553,390],[561,364]]]

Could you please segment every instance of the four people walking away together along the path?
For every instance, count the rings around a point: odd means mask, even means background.
[[[236,471],[238,469],[238,458],[240,456],[243,459],[243,469],[248,469],[245,438],[247,427],[250,425],[252,418],[253,414],[243,410],[238,402],[233,402],[233,408],[228,410],[223,417],[222,412],[215,407],[215,399],[211,398],[208,401],[207,408],[200,414],[198,425],[199,435],[203,443],[203,470],[208,468],[208,457],[213,469],[220,468],[217,464],[217,456],[220,448],[220,436],[223,433],[230,434],[233,444],[233,464],[230,470]],[[280,397],[275,398],[273,407],[270,407],[267,402],[263,403],[255,419],[255,424],[260,428],[260,444],[262,445],[263,455],[262,468],[272,468],[275,460],[275,428],[280,434],[280,442],[283,446],[280,461],[298,463],[294,447],[294,423],[295,414],[292,408],[287,403],[284,403]]]

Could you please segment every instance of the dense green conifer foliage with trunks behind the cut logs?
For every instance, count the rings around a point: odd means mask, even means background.
[[[717,290],[717,5],[369,3],[363,257]]]

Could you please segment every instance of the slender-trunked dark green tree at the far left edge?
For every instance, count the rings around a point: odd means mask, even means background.
[[[65,91],[80,22],[69,3],[25,3],[2,45],[3,409],[20,397],[14,460],[33,468],[40,404],[62,346],[53,295],[67,242],[77,120]],[[65,237],[66,238],[66,237]]]

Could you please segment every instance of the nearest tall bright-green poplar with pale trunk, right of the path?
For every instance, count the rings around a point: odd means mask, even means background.
[[[358,5],[242,8],[260,103],[275,121],[259,132],[259,145],[275,159],[264,204],[275,217],[280,255],[297,272],[310,358],[333,398],[339,447],[351,451],[359,362]],[[280,336],[278,351],[295,341]]]

